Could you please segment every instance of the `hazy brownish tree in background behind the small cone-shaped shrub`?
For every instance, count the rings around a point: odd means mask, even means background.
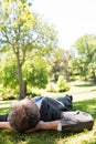
[[[56,82],[58,75],[62,74],[66,80],[70,79],[70,60],[71,55],[68,51],[64,49],[55,49],[52,59],[50,60],[51,64],[51,75],[54,75],[54,81]]]

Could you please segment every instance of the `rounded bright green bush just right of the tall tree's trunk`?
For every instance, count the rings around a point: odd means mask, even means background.
[[[47,66],[43,59],[35,58],[26,71],[26,81],[32,86],[45,88],[47,84]]]

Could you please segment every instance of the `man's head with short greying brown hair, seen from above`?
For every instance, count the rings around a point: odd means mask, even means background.
[[[40,112],[36,104],[25,97],[12,105],[8,121],[15,131],[24,132],[35,127],[40,121]]]

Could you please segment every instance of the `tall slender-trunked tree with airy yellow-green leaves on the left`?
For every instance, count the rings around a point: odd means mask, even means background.
[[[20,99],[25,96],[23,65],[26,59],[45,55],[56,45],[56,32],[52,25],[40,21],[25,0],[2,0],[0,3],[1,51],[12,50],[17,60]]]

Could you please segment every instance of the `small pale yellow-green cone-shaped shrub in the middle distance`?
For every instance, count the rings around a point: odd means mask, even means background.
[[[67,85],[66,80],[64,79],[63,75],[58,76],[57,86],[58,86],[58,92],[65,92],[70,90],[70,86]]]

